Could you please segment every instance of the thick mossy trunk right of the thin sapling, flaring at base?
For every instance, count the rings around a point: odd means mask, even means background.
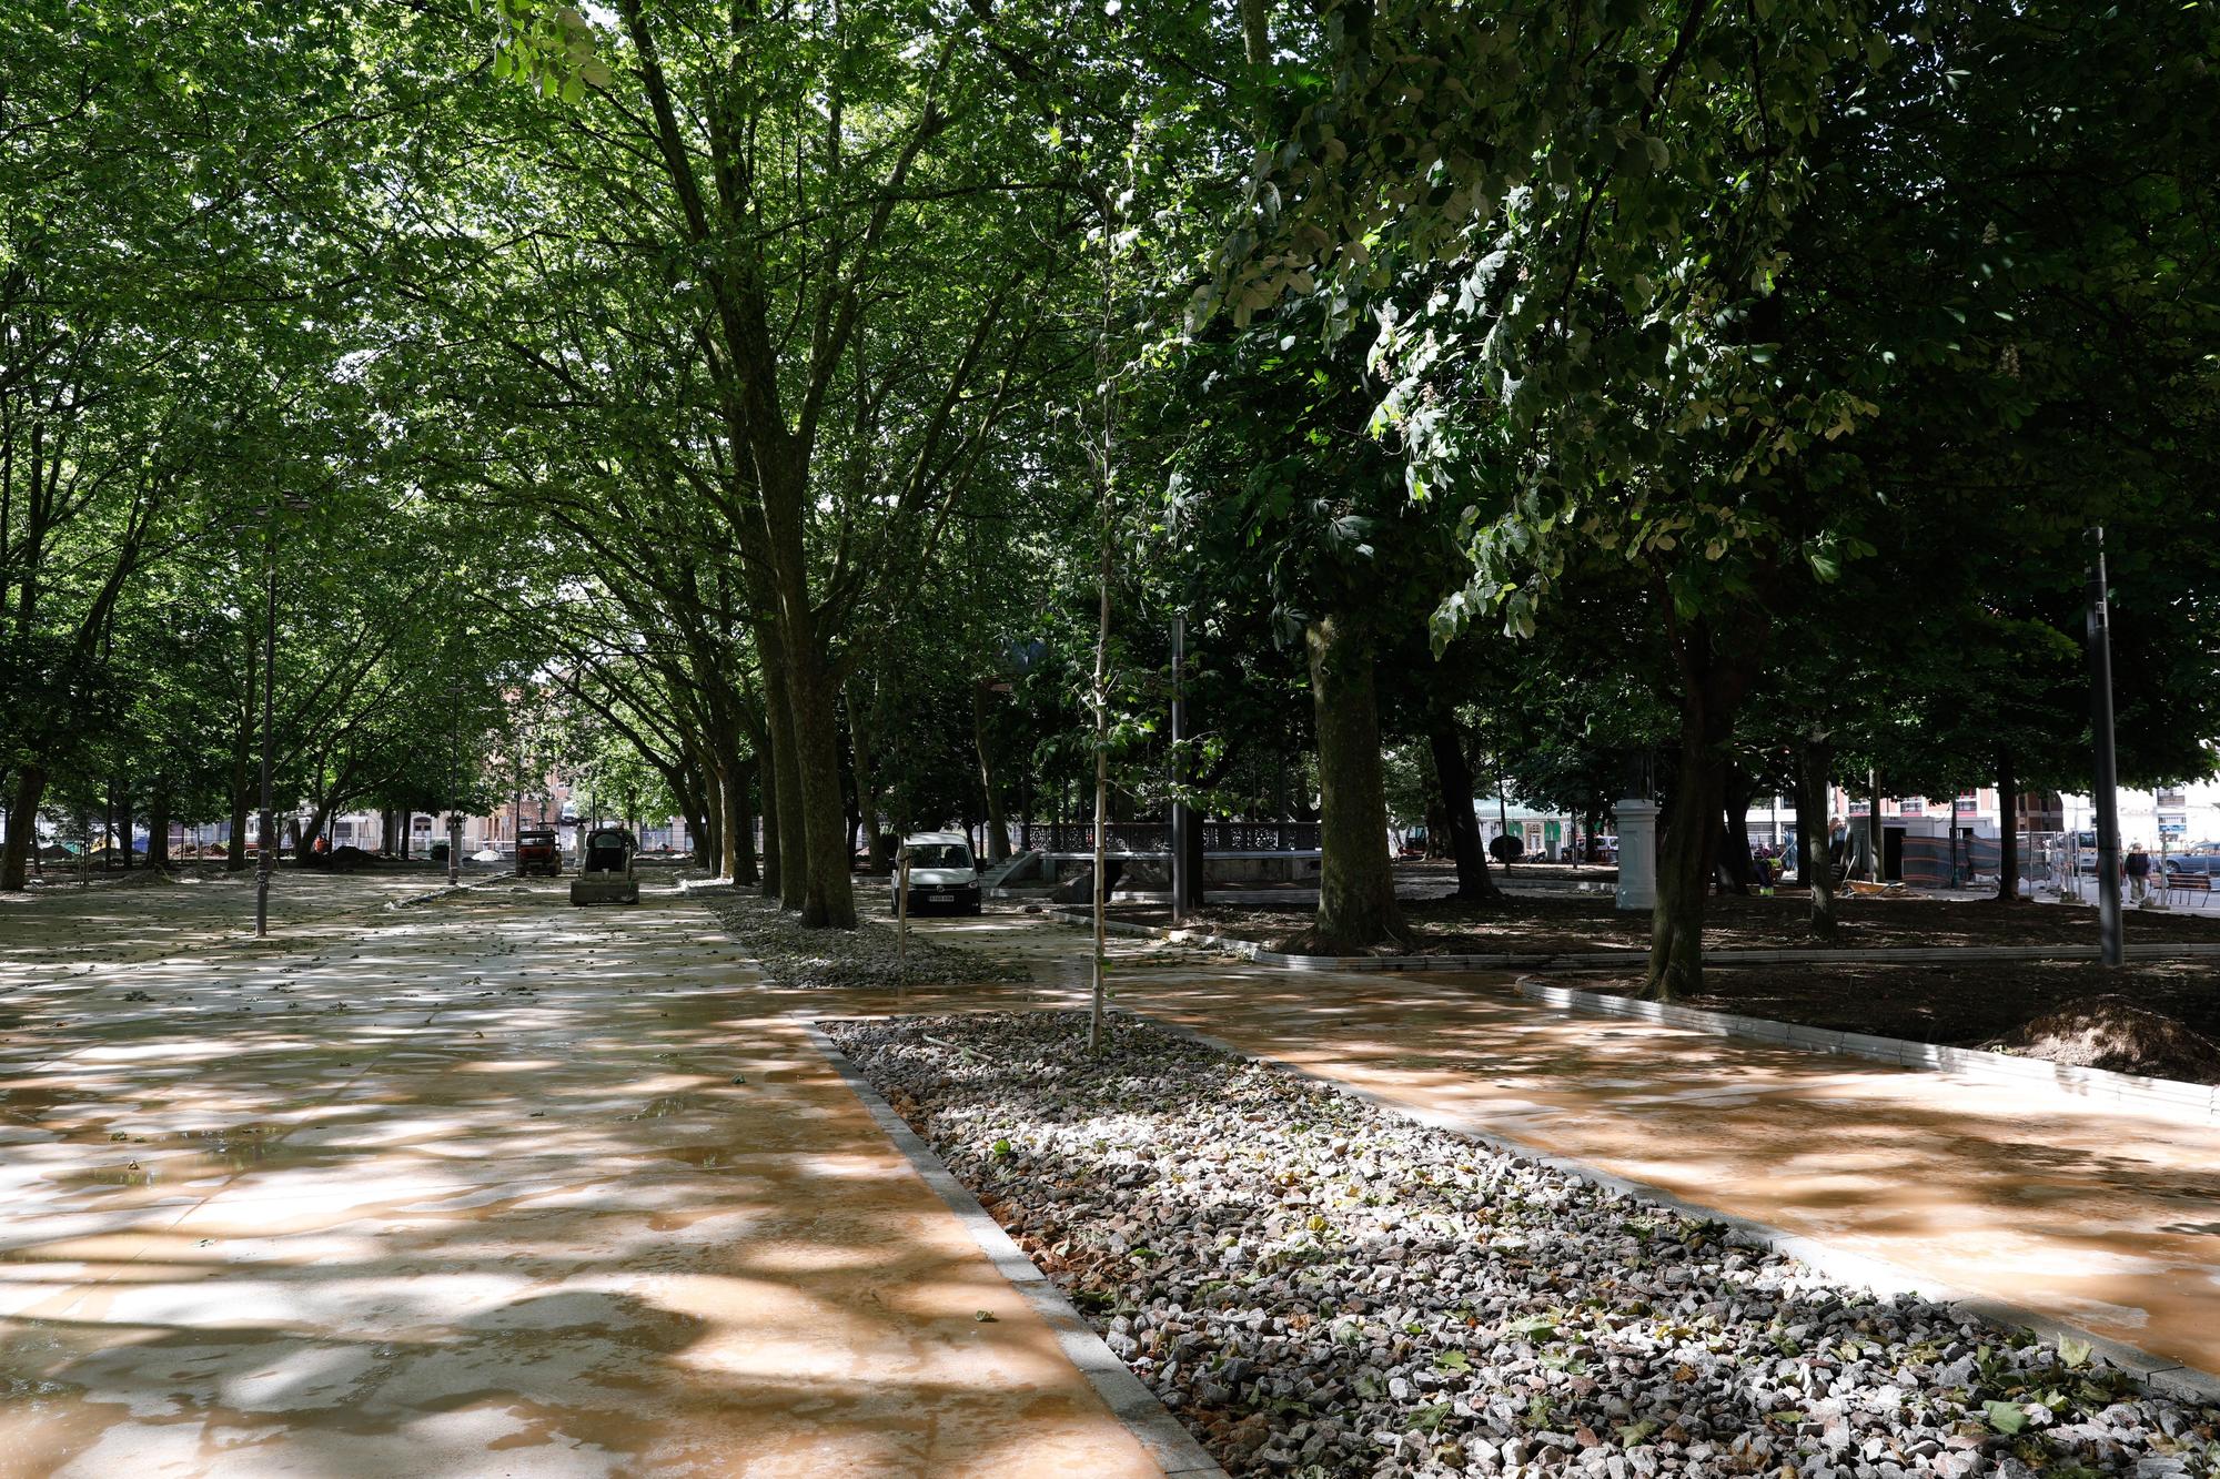
[[[1379,704],[1372,646],[1348,617],[1330,613],[1303,628],[1310,704],[1319,726],[1321,948],[1359,953],[1407,942],[1388,862],[1388,786],[1381,775]]]

